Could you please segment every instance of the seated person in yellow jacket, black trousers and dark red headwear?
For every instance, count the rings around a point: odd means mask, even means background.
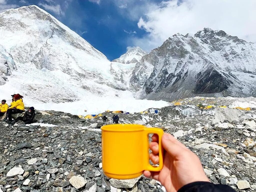
[[[14,95],[14,102],[12,106],[7,109],[5,121],[12,122],[12,114],[23,113],[25,110],[24,103],[22,100],[23,96],[20,94]],[[7,119],[8,118],[8,119]]]

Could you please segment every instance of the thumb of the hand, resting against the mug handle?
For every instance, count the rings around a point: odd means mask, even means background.
[[[162,136],[162,145],[167,153],[174,158],[180,157],[183,152],[187,150],[185,145],[180,143],[169,133],[164,133],[164,135]]]

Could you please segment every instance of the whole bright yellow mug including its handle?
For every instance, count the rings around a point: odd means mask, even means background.
[[[115,179],[132,179],[144,170],[160,171],[163,168],[162,135],[159,128],[135,124],[111,124],[102,130],[102,168],[104,174]],[[149,163],[148,134],[159,137],[159,166]]]

